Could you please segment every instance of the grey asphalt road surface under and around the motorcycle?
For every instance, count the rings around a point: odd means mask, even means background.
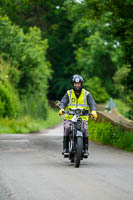
[[[91,142],[74,168],[62,132],[0,135],[0,200],[133,200],[133,153]]]

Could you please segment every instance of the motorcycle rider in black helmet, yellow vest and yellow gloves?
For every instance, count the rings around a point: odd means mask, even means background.
[[[97,118],[96,113],[96,103],[92,95],[83,88],[84,79],[82,76],[75,74],[72,76],[72,86],[73,89],[68,90],[60,102],[59,115],[64,114],[64,110],[70,110],[71,108],[83,108],[85,110],[90,110],[94,118]],[[69,154],[69,134],[71,128],[72,115],[65,114],[64,117],[64,137],[63,137],[63,153],[64,155]],[[88,156],[88,119],[89,116],[81,116],[82,123],[84,126],[84,156]]]

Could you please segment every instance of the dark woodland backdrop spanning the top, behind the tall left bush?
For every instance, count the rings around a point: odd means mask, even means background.
[[[1,0],[0,7],[25,33],[36,25],[48,39],[53,68],[49,98],[60,98],[71,75],[81,71],[97,76],[110,95],[117,95],[116,70],[133,64],[132,0]],[[132,69],[126,81],[133,91]]]

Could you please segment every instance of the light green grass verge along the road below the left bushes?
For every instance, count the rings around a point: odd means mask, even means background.
[[[57,109],[48,110],[47,120],[33,119],[25,116],[21,119],[0,119],[0,134],[4,133],[31,133],[53,127],[61,122]]]

